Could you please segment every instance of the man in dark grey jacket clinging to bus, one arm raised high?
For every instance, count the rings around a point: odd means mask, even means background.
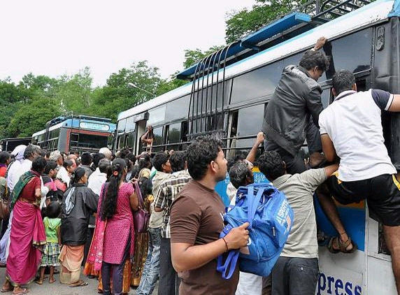
[[[299,66],[285,67],[264,113],[262,131],[266,150],[280,154],[288,173],[306,171],[299,154],[306,138],[310,154],[322,151],[318,131],[318,117],[323,110],[322,89],[317,80],[328,69],[329,61],[324,52],[318,50],[326,40],[319,38],[314,48],[301,57]]]

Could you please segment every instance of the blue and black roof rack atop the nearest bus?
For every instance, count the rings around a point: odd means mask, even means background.
[[[369,3],[371,3],[369,0],[326,0],[322,3],[320,0],[310,0],[280,19],[266,24],[262,29],[244,36],[222,50],[213,52],[190,68],[178,73],[176,78],[195,80],[203,77]]]

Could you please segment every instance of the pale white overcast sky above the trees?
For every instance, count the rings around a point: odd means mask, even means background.
[[[73,75],[94,86],[147,60],[162,78],[183,70],[185,49],[225,43],[225,20],[255,0],[13,0],[0,2],[0,80]]]

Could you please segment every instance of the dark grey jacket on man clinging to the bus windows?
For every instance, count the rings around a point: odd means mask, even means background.
[[[318,127],[318,117],[324,109],[321,93],[320,85],[306,69],[285,67],[264,113],[262,131],[266,140],[295,156],[306,139],[304,129],[310,117]]]

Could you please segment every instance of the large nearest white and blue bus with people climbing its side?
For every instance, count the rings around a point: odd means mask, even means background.
[[[331,78],[340,69],[355,74],[358,90],[400,93],[399,16],[400,0],[309,1],[180,72],[178,78],[189,80],[186,85],[120,113],[115,149],[140,153],[141,135],[151,125],[152,151],[185,150],[196,136],[215,134],[227,158],[247,154],[283,69],[299,64],[321,36],[328,39],[323,50],[331,61],[318,80],[324,108],[333,101]],[[382,122],[385,145],[399,170],[400,114],[383,112]],[[303,151],[306,157],[306,145]],[[255,178],[263,179],[257,173]],[[336,236],[319,206],[316,211],[322,231]],[[320,247],[316,294],[397,294],[382,225],[369,218],[364,202],[338,204],[338,211],[358,250],[331,254]]]

